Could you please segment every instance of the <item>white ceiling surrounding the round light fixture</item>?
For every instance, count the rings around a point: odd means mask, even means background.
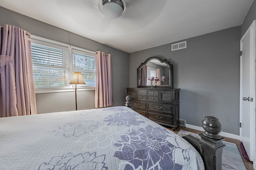
[[[100,0],[0,0],[0,6],[127,53],[241,25],[253,0],[124,0],[111,20]]]

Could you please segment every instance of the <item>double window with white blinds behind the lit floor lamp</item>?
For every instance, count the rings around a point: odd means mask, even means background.
[[[32,64],[36,89],[72,88],[73,72],[82,72],[86,85],[95,86],[95,57],[91,51],[32,37]]]

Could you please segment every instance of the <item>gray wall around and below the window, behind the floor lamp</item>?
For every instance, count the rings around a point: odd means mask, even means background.
[[[107,45],[70,33],[58,27],[34,20],[27,16],[0,7],[0,24],[20,27],[33,35],[81,47],[90,51],[104,51],[111,54],[113,106],[124,106],[126,87],[129,85],[128,53]],[[125,63],[125,64],[124,64]],[[94,108],[94,90],[77,92],[78,109]],[[70,111],[75,109],[74,92],[36,94],[38,113]]]

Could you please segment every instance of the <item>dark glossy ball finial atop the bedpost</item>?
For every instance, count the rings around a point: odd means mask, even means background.
[[[217,117],[206,116],[202,120],[202,127],[204,128],[203,135],[212,139],[221,139],[219,133],[222,130],[222,125]]]

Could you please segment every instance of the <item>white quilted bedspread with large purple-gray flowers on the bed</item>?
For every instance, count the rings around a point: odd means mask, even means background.
[[[198,152],[124,106],[0,118],[2,170],[201,170]]]

